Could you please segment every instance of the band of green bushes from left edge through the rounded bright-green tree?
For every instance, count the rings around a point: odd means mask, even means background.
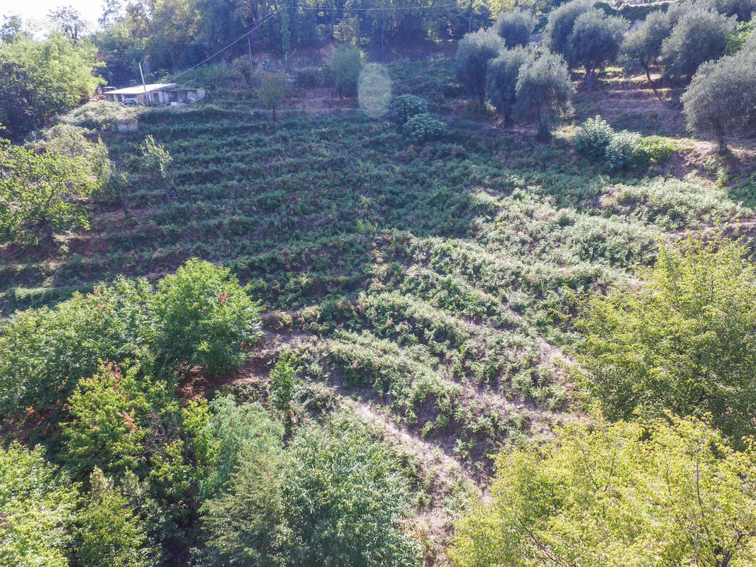
[[[64,401],[100,360],[197,365],[216,375],[243,361],[258,336],[258,307],[227,268],[191,260],[153,291],[116,280],[54,308],[0,324],[0,411],[46,410]]]

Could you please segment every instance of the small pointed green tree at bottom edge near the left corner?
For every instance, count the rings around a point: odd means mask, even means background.
[[[76,565],[92,567],[149,567],[156,557],[147,543],[141,519],[129,500],[101,469],[89,476],[89,491],[77,513]]]

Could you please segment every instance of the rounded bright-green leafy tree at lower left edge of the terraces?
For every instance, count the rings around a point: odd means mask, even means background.
[[[157,284],[156,354],[210,376],[235,370],[260,337],[259,305],[228,268],[190,259]]]

